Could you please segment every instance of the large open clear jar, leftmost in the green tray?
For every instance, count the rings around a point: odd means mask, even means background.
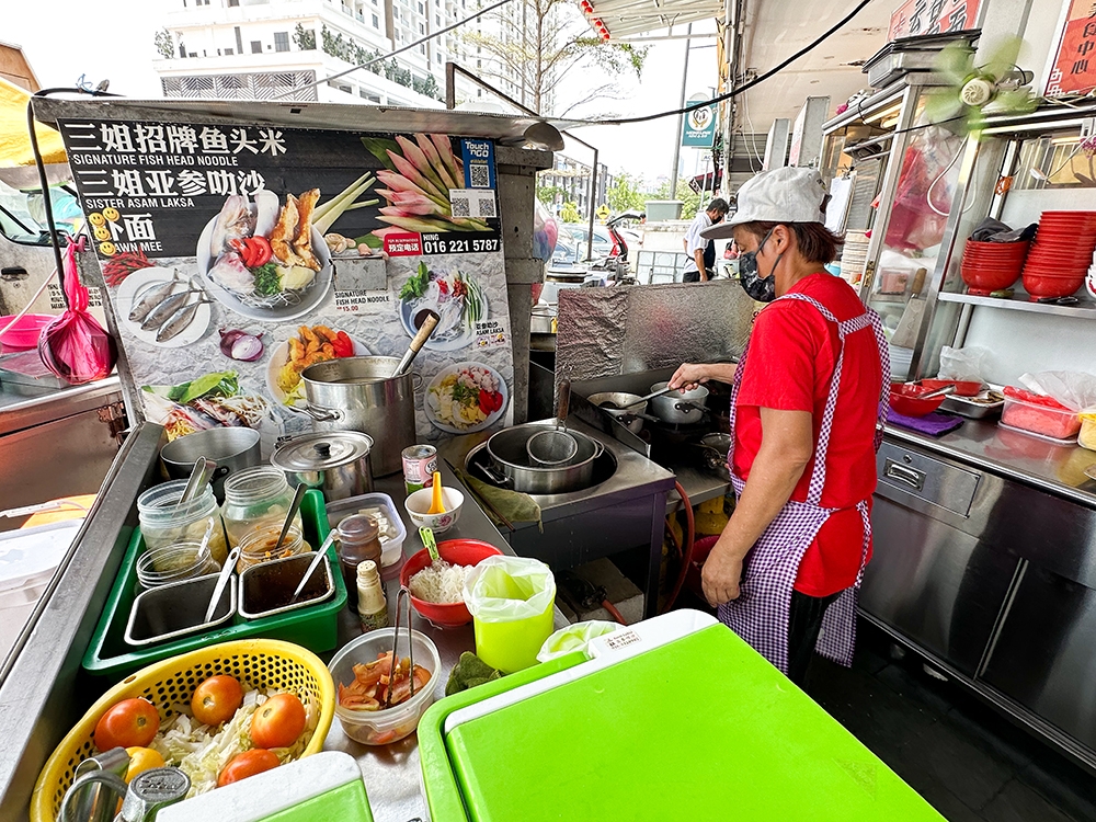
[[[179,498],[185,488],[186,480],[172,480],[155,486],[137,498],[137,516],[145,548],[152,550],[178,543],[201,543],[212,521],[209,555],[224,564],[228,559],[228,546],[213,486],[207,484],[197,496],[180,505]]]

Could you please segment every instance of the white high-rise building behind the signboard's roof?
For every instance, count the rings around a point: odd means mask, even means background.
[[[345,77],[300,88],[467,18],[479,0],[172,0],[157,36],[163,95],[439,107],[445,64],[487,62],[461,30]],[[482,31],[483,18],[469,25]],[[500,25],[500,23],[493,23]],[[170,56],[169,56],[170,55]],[[489,65],[493,76],[499,67]],[[514,84],[503,82],[504,90]],[[286,94],[292,89],[299,91]],[[458,100],[483,96],[457,87]]]

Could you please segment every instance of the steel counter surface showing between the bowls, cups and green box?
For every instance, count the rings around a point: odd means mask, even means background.
[[[442,482],[446,486],[460,486],[457,478],[449,470],[444,461],[439,465],[442,471]],[[419,538],[416,529],[403,510],[403,478],[400,475],[385,477],[376,482],[376,490],[384,491],[396,502],[403,517],[403,524],[408,529],[408,538],[403,543],[404,558],[422,550],[422,540]],[[499,548],[504,553],[513,553],[510,545],[503,539],[498,528],[491,524],[487,515],[473,502],[473,498],[467,491],[465,493],[465,504],[460,509],[460,518],[452,529],[439,539],[455,539],[458,537],[469,539],[482,539],[486,543]],[[396,594],[399,591],[399,579],[388,580],[385,583],[385,593],[388,596],[389,624],[395,625]],[[358,636],[361,626],[350,609],[342,613],[340,625],[340,643]],[[561,628],[567,625],[563,615],[556,610],[556,627]],[[449,671],[457,663],[464,651],[475,651],[476,641],[472,636],[471,625],[463,628],[441,629],[435,628],[418,614],[412,617],[412,625],[415,630],[425,633],[437,646],[437,654],[442,661],[442,676],[438,677],[435,686],[436,698],[441,699],[445,695],[445,683],[448,680]],[[330,658],[333,654],[329,654]],[[357,760],[365,778],[365,789],[369,795],[369,804],[373,808],[373,817],[377,822],[408,822],[414,818],[426,819],[426,804],[420,790],[419,769],[419,741],[415,734],[393,742],[390,745],[374,747],[363,745],[349,739],[342,732],[336,718],[331,723],[331,731],[323,744],[326,751],[343,751]],[[334,822],[334,821],[332,821]]]

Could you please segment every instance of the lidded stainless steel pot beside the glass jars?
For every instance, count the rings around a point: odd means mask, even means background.
[[[373,491],[372,448],[373,437],[358,431],[301,434],[279,445],[271,465],[292,483],[318,488],[333,502]]]

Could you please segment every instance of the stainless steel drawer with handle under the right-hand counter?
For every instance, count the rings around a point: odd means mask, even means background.
[[[959,516],[970,513],[981,476],[893,443],[882,444],[876,455],[876,466],[879,471],[877,493],[901,502],[901,495],[888,493],[893,489]]]

